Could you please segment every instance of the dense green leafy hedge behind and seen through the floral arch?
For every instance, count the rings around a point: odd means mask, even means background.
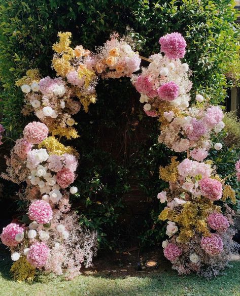
[[[159,52],[159,37],[179,31],[188,44],[185,60],[192,69],[193,94],[204,92],[213,104],[224,103],[227,87],[238,79],[233,7],[233,0],[0,0],[0,108],[9,138],[17,139],[31,120],[21,114],[23,94],[15,81],[30,68],[54,75],[51,46],[58,31],[71,31],[73,45],[94,50],[113,31],[124,34],[131,28],[144,56]],[[74,207],[80,223],[98,229],[102,247],[138,243],[136,235],[142,245],[153,244],[163,234],[156,219],[156,194],[165,185],[158,167],[171,152],[156,144],[157,123],[143,114],[129,79],[100,81],[97,94],[89,113],[75,117],[81,138],[73,145],[81,163]],[[3,146],[2,155],[13,142]],[[5,213],[6,207],[10,213],[24,208],[14,194],[18,189],[5,182]]]

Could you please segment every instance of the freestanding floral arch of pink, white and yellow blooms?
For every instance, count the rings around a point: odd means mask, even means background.
[[[80,273],[82,262],[90,265],[96,233],[78,224],[69,203],[70,194],[78,191],[70,185],[76,178],[79,155],[60,139],[79,137],[72,116],[81,106],[88,112],[89,104],[95,103],[98,77],[124,76],[131,78],[141,94],[146,114],[161,123],[158,142],[185,153],[183,161],[173,157],[170,165],[160,167],[160,178],[169,183],[157,196],[166,204],[159,219],[168,220],[164,255],[180,274],[216,275],[237,248],[230,227],[234,213],[224,204],[227,198],[235,202],[235,194],[225,185],[227,177],[221,179],[211,161],[204,160],[213,146],[211,136],[224,128],[223,112],[202,94],[191,99],[191,72],[181,62],[187,46],[184,38],[177,32],[161,37],[163,54],[148,59],[134,52],[127,37],[120,39],[117,34],[95,53],[82,46],[73,49],[70,32],[58,36],[52,60],[57,78],[41,78],[35,69],[16,82],[25,93],[26,108],[39,121],[25,126],[7,159],[7,174],[2,174],[13,182],[26,182],[20,198],[29,204],[21,224],[11,223],[1,234],[15,261],[14,277],[32,278],[36,269],[45,269],[56,274],[66,271],[73,278]],[[149,66],[133,74],[140,70],[141,58]],[[221,143],[214,145],[216,150],[221,147]],[[236,171],[239,179],[239,161]],[[216,203],[220,200],[221,204]]]

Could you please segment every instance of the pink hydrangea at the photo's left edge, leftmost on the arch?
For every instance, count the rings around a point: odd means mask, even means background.
[[[2,243],[8,247],[16,247],[19,242],[15,240],[17,234],[22,234],[24,229],[15,223],[10,223],[3,228],[0,236]]]

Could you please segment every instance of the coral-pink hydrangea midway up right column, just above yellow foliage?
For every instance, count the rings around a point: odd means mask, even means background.
[[[201,193],[211,201],[218,201],[222,197],[222,183],[216,179],[203,178],[199,181]]]

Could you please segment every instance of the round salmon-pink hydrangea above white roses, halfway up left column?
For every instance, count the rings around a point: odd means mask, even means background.
[[[29,143],[40,144],[48,137],[48,127],[41,122],[30,122],[23,129],[23,137]]]

